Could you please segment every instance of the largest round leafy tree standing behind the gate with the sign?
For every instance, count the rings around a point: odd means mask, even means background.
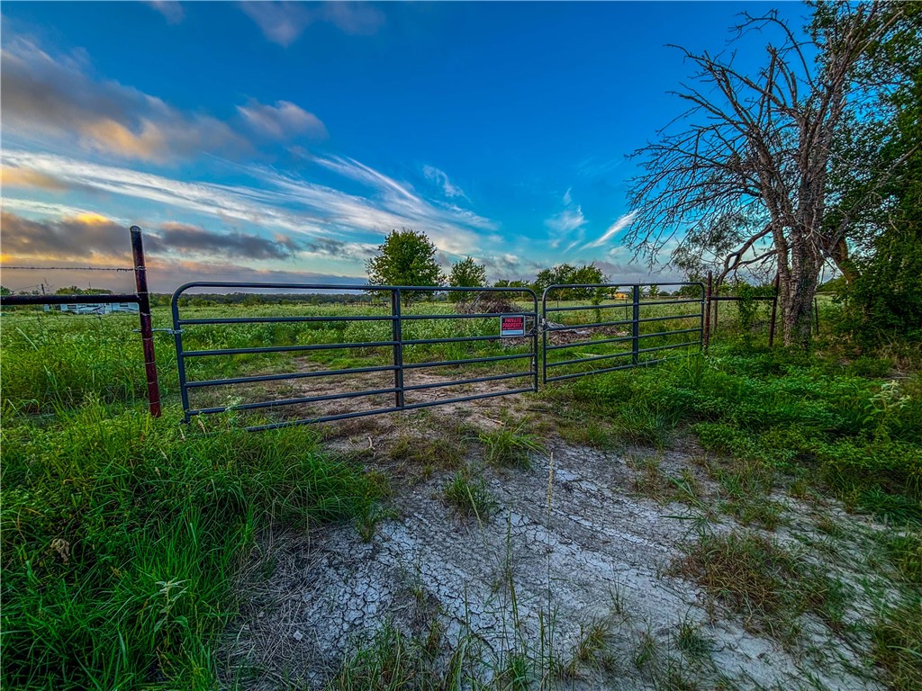
[[[392,230],[378,247],[378,254],[366,264],[372,286],[439,286],[444,281],[435,259],[435,245],[425,233],[408,228]],[[403,302],[431,297],[434,291],[408,290]]]

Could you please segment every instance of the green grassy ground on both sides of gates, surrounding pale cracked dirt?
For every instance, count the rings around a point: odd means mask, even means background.
[[[618,321],[622,309],[608,310],[619,314],[614,318],[602,309],[599,319],[599,308],[586,304],[551,319],[565,326]],[[642,316],[687,313],[675,309],[691,312],[696,305],[650,305]],[[822,305],[824,326],[833,321],[835,309]],[[439,310],[447,313],[453,307],[416,304],[405,311]],[[146,413],[140,340],[133,333],[136,317],[4,313],[3,687],[251,687],[246,677],[229,675],[222,651],[229,627],[250,606],[242,575],[252,578],[265,571],[269,578],[276,571],[267,536],[337,530],[355,535],[356,545],[366,540],[374,545],[386,526],[400,525],[394,517],[403,509],[402,488],[425,482],[444,483],[450,533],[459,530],[450,521],[467,521],[463,525],[471,535],[477,534],[478,524],[496,526],[502,535],[504,502],[513,499],[484,480],[494,471],[483,469],[502,469],[502,483],[514,486],[516,478],[545,472],[549,465],[553,475],[554,452],[549,450],[556,449],[576,468],[580,454],[596,459],[598,472],[620,463],[633,480],[619,491],[628,492],[651,515],[687,511],[685,521],[693,530],[670,578],[693,583],[702,597],[711,598],[712,617],[736,618],[751,632],[746,635],[775,641],[779,655],[800,650],[803,634],[798,630],[810,620],[810,627],[825,627],[833,649],[850,651],[849,664],[860,668],[848,672],[857,674],[848,677],[851,681],[864,680],[869,688],[919,688],[922,376],[917,350],[910,347],[901,357],[858,356],[827,331],[813,353],[770,351],[764,345],[762,312],[740,333],[733,310],[721,304],[720,337],[708,357],[682,346],[663,351],[679,357],[650,368],[556,382],[508,402],[493,399],[498,403],[487,411],[488,418],[495,418],[493,427],[465,427],[472,424],[466,422],[468,415],[455,408],[451,416],[381,416],[361,428],[330,424],[261,433],[239,427],[244,420],[271,421],[292,413],[244,416],[233,404],[301,388],[283,381],[203,391],[195,404],[229,404],[231,409],[202,419],[201,425],[199,418],[180,425],[172,336],[158,332],[165,405],[163,417],[152,419]],[[376,316],[389,308],[183,308],[184,318],[202,319],[280,313]],[[697,326],[696,320],[644,322],[644,342],[648,347],[679,344],[694,334],[663,335],[664,324],[690,328],[686,324]],[[155,328],[170,327],[169,310],[155,310],[154,322]],[[495,318],[408,324],[405,340],[498,332]],[[559,360],[620,360],[630,341],[609,339],[621,338],[622,328],[568,335],[579,345],[551,352]],[[389,338],[390,322],[256,322],[189,327],[183,345],[224,349]],[[561,340],[559,345],[570,344]],[[416,345],[407,346],[405,359],[491,357],[526,353],[529,347],[499,339]],[[309,357],[302,352],[199,357],[189,377],[217,380],[374,367],[390,357],[390,346],[364,345],[309,351]],[[452,366],[433,376],[452,381],[514,372],[522,368],[517,362]],[[357,380],[335,384],[373,388],[384,381]],[[471,408],[484,412],[476,404]],[[302,416],[310,410],[293,413]],[[667,470],[668,459],[674,458],[684,460]],[[618,506],[625,496],[619,495]],[[442,499],[433,501],[432,507],[443,506]],[[550,501],[549,486],[549,512]],[[455,513],[460,518],[452,518]],[[869,537],[855,543],[857,535],[849,527],[855,517],[882,527],[868,529]],[[791,551],[790,534],[798,521],[810,522],[810,534],[822,533],[822,541],[810,543],[806,551]],[[846,543],[851,545],[847,549]],[[857,559],[858,566],[851,566],[859,573],[846,579],[839,567],[830,566],[836,559]],[[526,587],[514,570],[503,578],[508,582],[500,591]],[[623,609],[613,602],[615,610]],[[435,622],[437,616],[431,616]],[[253,621],[248,631],[258,619]],[[461,654],[460,639],[454,651],[446,651],[443,634],[433,633],[432,627],[413,638],[384,625],[369,642],[345,654],[325,679],[308,684],[280,673],[261,677],[273,679],[272,685],[252,687],[582,688],[587,679],[603,687],[615,684],[604,681],[609,673],[616,675],[612,679],[634,680],[635,687],[759,687],[728,668],[718,670],[719,656],[702,638],[710,626],[706,622],[677,626],[675,649],[656,648],[653,629],[640,630],[624,658],[628,662],[619,658],[618,664],[626,666],[609,669],[605,651],[620,645],[620,629],[581,624],[578,645],[562,660],[546,653],[542,625],[538,643],[526,641],[523,633],[510,654],[483,652],[474,660],[473,637],[464,639],[469,646]],[[242,630],[233,636],[239,639]],[[794,660],[810,657],[792,655]],[[704,659],[711,662],[705,665]],[[685,666],[670,666],[676,661]],[[484,665],[490,668],[487,673]],[[833,682],[817,684],[833,688]]]

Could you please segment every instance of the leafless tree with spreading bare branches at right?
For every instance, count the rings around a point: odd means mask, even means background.
[[[817,13],[807,38],[774,13],[743,15],[739,35],[772,30],[781,39],[766,47],[756,75],[739,71],[734,53],[680,49],[695,72],[675,94],[690,107],[633,154],[644,170],[631,194],[635,250],[653,257],[672,240],[673,261],[686,267],[710,253],[721,280],[744,267],[774,268],[786,345],[809,343],[822,264],[844,264],[853,214],[840,209],[835,223],[824,222],[837,135],[881,88],[860,82],[857,63],[900,18],[899,6],[882,3],[821,4]],[[676,123],[685,129],[675,132]],[[873,189],[853,200],[855,210]]]

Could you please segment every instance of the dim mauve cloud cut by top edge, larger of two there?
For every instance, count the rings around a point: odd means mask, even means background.
[[[245,2],[241,9],[262,29],[266,39],[286,48],[318,21],[329,22],[346,33],[365,35],[384,24],[384,15],[364,3]]]

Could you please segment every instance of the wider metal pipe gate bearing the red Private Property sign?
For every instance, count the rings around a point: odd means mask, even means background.
[[[372,299],[363,309],[340,305],[336,310],[325,310],[342,313],[231,317],[214,313],[214,309],[195,308],[204,313],[189,315],[190,307],[184,303],[195,299],[192,291],[208,289],[351,294]],[[437,303],[432,302],[422,303],[421,309],[428,312],[413,308],[414,298],[433,293],[446,298],[460,294],[466,309],[458,309],[458,303],[451,301],[441,303],[446,307],[439,311],[434,311]],[[491,294],[505,298],[506,313],[495,311],[495,299],[492,309],[479,310]],[[177,288],[171,308],[185,422],[193,416],[230,411],[294,411],[294,416],[257,420],[246,427],[269,429],[538,390],[538,297],[528,288],[198,281]],[[311,309],[318,310],[324,311]],[[439,323],[448,327],[432,326]],[[419,331],[416,324],[429,324],[431,331],[441,332],[440,337],[416,337],[419,334],[412,333]],[[219,327],[217,333],[215,327]],[[235,328],[242,334],[228,333]],[[246,333],[247,329],[251,333]],[[281,343],[265,344],[260,340],[264,338]],[[254,340],[259,345],[253,345]],[[443,357],[446,351],[452,357]],[[272,359],[278,353],[310,354],[314,359],[299,362],[297,371],[287,371],[290,360]],[[224,362],[227,358],[249,360],[250,371],[247,376],[222,376],[226,368],[220,365],[220,358],[225,358]],[[320,369],[315,369],[317,361],[321,362]],[[199,363],[210,366],[196,367]],[[194,369],[204,376],[195,377]],[[449,375],[423,376],[432,370],[448,371]],[[330,377],[336,378],[332,387],[321,383]],[[513,385],[497,390],[492,383],[497,381]],[[313,387],[312,382],[316,382]],[[439,398],[424,393],[443,389],[454,391]],[[193,404],[191,398],[203,392],[210,393],[211,398],[205,404]],[[230,393],[221,400],[221,392]],[[363,399],[371,407],[337,410],[338,402],[354,399]]]

